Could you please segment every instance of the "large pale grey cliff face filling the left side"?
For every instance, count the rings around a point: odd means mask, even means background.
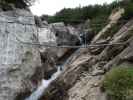
[[[25,10],[1,12],[0,23],[0,100],[15,100],[32,91],[32,77],[41,68],[38,48],[23,43],[37,42],[37,30],[34,17]]]

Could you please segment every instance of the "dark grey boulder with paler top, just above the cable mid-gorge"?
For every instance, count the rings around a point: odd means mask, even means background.
[[[55,31],[58,45],[75,45],[79,41],[78,31],[74,30],[73,27],[65,26],[62,22],[53,23],[51,26]]]

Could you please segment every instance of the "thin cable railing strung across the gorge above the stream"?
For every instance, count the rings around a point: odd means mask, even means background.
[[[15,23],[15,25],[18,23],[18,24],[23,24],[23,25],[33,25],[33,24],[24,24],[24,23],[19,23],[19,22],[12,22],[12,21],[9,21],[9,22],[4,22],[4,21],[0,21],[0,23],[3,22],[3,23]],[[37,26],[34,25],[36,28]],[[15,26],[16,27],[16,26]],[[38,28],[37,28],[38,29]],[[127,30],[126,30],[127,31]],[[129,30],[128,30],[129,31]],[[122,33],[124,33],[125,31],[123,31]],[[38,37],[38,30],[36,31],[36,38],[37,40],[39,40],[39,37]],[[26,44],[26,45],[34,45],[34,46],[44,46],[46,48],[90,48],[90,47],[105,47],[105,46],[116,46],[116,45],[126,45],[128,42],[119,42],[119,43],[95,43],[95,44],[88,44],[87,43],[87,37],[86,37],[86,33],[85,33],[85,43],[84,44],[81,44],[81,45],[52,45],[50,44],[49,42],[43,42],[42,44],[39,43],[39,41],[36,41],[36,42],[27,42],[27,41],[23,41],[22,39],[20,39],[20,37],[17,36],[16,32],[13,34],[14,37],[16,38],[16,40],[18,42],[20,42],[21,44]],[[71,43],[72,41],[68,42]],[[67,42],[66,42],[67,44]]]

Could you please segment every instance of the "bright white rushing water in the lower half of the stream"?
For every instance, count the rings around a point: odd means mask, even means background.
[[[42,80],[41,85],[34,91],[28,98],[25,100],[38,100],[43,93],[45,92],[46,88],[50,85],[52,81],[54,81],[59,75],[61,74],[61,67],[58,67],[56,73],[49,80]]]

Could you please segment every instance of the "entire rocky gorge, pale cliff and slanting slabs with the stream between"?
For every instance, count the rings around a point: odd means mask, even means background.
[[[132,66],[133,19],[108,34],[124,12],[112,12],[97,34],[89,21],[37,26],[30,11],[0,12],[0,100],[108,100],[101,89],[105,74],[114,66]],[[84,32],[88,48],[80,40]]]

